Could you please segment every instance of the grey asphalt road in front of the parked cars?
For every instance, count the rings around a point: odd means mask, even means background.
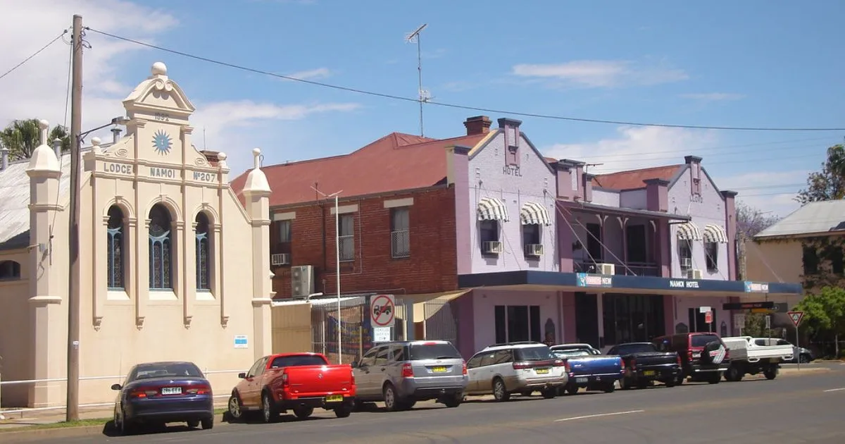
[[[346,444],[624,442],[845,442],[845,365],[829,372],[745,380],[662,385],[645,390],[585,393],[555,399],[514,397],[509,403],[470,401],[458,408],[417,404],[408,412],[382,411],[335,419],[283,417],[274,425],[219,424],[213,430],[170,427],[144,436],[86,436],[63,444],[314,442]],[[420,407],[422,405],[422,407]],[[58,442],[54,441],[41,441]]]

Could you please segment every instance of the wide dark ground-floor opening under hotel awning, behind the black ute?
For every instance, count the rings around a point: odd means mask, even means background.
[[[650,341],[665,334],[662,296],[606,293],[602,311],[603,345]]]

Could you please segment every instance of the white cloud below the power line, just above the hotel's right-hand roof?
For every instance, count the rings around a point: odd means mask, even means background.
[[[602,163],[590,167],[590,173],[614,173],[684,162],[684,156],[695,154],[696,150],[717,140],[715,132],[702,129],[624,126],[616,132],[616,137],[580,144],[555,144],[542,151],[546,156],[558,159]]]

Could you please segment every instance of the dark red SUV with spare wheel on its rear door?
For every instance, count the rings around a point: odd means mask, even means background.
[[[718,384],[722,372],[730,367],[730,352],[722,343],[722,337],[712,332],[678,333],[655,337],[651,343],[662,352],[675,352],[681,361],[681,373],[677,383],[690,381]]]

